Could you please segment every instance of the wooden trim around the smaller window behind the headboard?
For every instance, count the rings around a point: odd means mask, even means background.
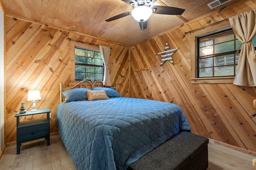
[[[71,57],[71,85],[74,86],[81,80],[76,80],[75,77],[75,48],[81,48],[81,49],[86,49],[90,51],[96,51],[100,52],[100,49],[97,45],[90,45],[87,43],[80,43],[76,41],[70,41],[70,57]],[[104,65],[104,63],[103,63]]]

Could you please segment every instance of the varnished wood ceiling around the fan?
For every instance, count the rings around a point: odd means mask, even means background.
[[[232,0],[211,10],[207,4],[213,0],[157,0],[153,5],[183,8],[185,12],[181,16],[152,14],[148,19],[147,29],[141,33],[138,21],[132,16],[111,22],[105,21],[133,9],[122,0],[0,0],[7,16],[66,31],[72,30],[128,46],[238,1]]]

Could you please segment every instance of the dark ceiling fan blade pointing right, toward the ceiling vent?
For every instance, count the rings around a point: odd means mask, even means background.
[[[181,15],[185,11],[182,8],[176,8],[171,6],[160,6],[155,5],[152,7],[154,14],[165,14],[165,15]]]

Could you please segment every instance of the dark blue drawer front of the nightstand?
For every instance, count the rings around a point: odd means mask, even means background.
[[[17,142],[48,136],[50,133],[50,123],[40,123],[17,128]]]

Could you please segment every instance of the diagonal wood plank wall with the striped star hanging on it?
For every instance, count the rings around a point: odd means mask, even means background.
[[[192,84],[191,38],[189,33],[185,34],[255,8],[255,0],[233,4],[132,46],[132,70],[150,67],[150,70],[132,71],[132,97],[178,104],[192,133],[256,152],[256,117],[250,117],[256,113],[252,106],[256,88],[234,84]],[[166,41],[170,49],[179,49],[173,55],[174,65],[166,62],[160,66],[162,57],[157,53],[164,51]]]

